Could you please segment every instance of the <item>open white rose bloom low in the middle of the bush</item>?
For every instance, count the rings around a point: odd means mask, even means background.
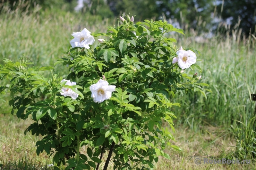
[[[95,103],[101,103],[111,97],[112,92],[116,91],[115,88],[116,86],[109,86],[107,81],[100,79],[99,82],[90,86],[91,97]]]

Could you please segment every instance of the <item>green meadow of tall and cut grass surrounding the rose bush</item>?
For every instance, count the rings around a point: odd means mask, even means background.
[[[0,14],[0,59],[18,60],[23,55],[34,65],[46,66],[66,57],[72,32],[87,28],[104,32],[117,20],[101,20],[96,16],[46,10],[37,6],[34,11],[8,11]],[[166,149],[171,160],[159,158],[156,169],[255,169],[255,104],[250,94],[256,93],[256,37],[243,38],[241,30],[231,29],[228,34],[211,38],[197,30],[186,30],[185,36],[169,34],[177,39],[177,47],[194,47],[202,53],[198,64],[203,69],[202,82],[212,92],[176,95],[173,107],[175,144],[183,151]],[[231,32],[231,34],[229,34]],[[0,61],[3,64],[3,61]],[[186,71],[185,71],[186,72]],[[55,74],[68,75],[66,66],[57,65]],[[1,85],[7,81],[1,80]],[[0,169],[52,169],[51,157],[45,152],[36,155],[37,137],[23,132],[31,121],[11,115],[9,94],[0,95]],[[41,137],[39,137],[41,138]],[[240,149],[239,149],[240,148]],[[85,153],[86,149],[82,149]],[[103,156],[105,160],[107,154]],[[244,158],[249,165],[200,164],[195,158]],[[103,168],[103,163],[100,166]],[[111,169],[111,168],[110,168]]]

